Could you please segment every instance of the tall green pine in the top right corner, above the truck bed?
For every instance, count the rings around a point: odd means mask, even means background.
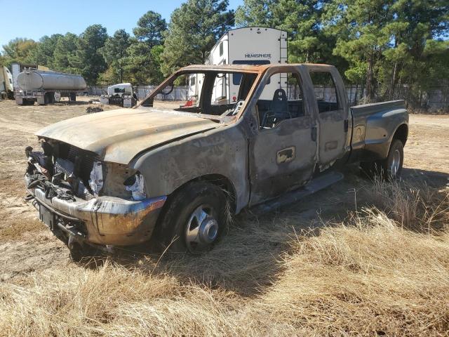
[[[448,79],[449,1],[396,0],[389,25],[392,47],[381,72],[385,95],[394,98],[398,83],[408,84],[408,101],[420,105],[431,86]]]

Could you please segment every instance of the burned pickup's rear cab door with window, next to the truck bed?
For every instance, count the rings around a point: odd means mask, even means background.
[[[328,65],[307,65],[319,124],[318,161],[321,171],[349,151],[349,104],[340,74]]]

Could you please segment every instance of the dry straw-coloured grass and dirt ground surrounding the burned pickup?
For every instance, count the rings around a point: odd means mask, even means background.
[[[449,116],[410,116],[400,184],[349,167],[304,201],[237,216],[202,256],[75,264],[22,176],[33,133],[86,107],[0,102],[0,336],[449,335]]]

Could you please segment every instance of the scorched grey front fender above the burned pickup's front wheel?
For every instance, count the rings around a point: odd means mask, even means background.
[[[239,124],[223,126],[140,154],[130,166],[145,177],[148,196],[170,195],[201,176],[220,175],[235,190],[236,213],[249,201],[248,145]]]

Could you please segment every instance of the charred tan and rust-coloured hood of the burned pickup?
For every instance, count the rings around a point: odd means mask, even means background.
[[[95,152],[105,161],[128,164],[149,148],[218,126],[194,115],[139,107],[66,119],[41,129],[36,136]]]

